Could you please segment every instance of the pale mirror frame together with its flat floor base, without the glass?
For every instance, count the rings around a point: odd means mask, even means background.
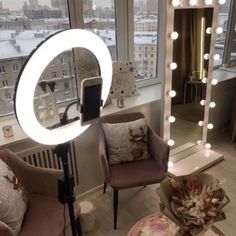
[[[159,55],[158,58],[158,77],[162,79],[162,117],[161,117],[161,135],[163,139],[173,144],[170,134],[170,120],[171,116],[171,100],[172,95],[172,70],[173,70],[173,37],[171,33],[174,32],[174,11],[181,8],[209,8],[213,9],[212,32],[209,52],[209,63],[207,68],[207,84],[206,84],[206,99],[202,140],[201,143],[186,143],[171,151],[169,159],[168,173],[171,176],[188,175],[195,172],[200,172],[213,164],[223,160],[223,155],[209,149],[207,144],[207,124],[209,120],[211,102],[211,87],[212,87],[212,73],[213,73],[213,56],[215,52],[215,41],[217,28],[217,17],[219,11],[219,4],[214,3],[212,6],[205,5],[199,1],[195,6],[191,6],[187,0],[180,1],[180,5],[173,6],[172,1],[159,1]],[[178,66],[178,65],[177,65]],[[173,92],[172,92],[173,93]]]

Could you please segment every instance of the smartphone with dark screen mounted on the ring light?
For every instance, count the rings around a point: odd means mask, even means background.
[[[82,80],[80,92],[80,121],[82,126],[90,124],[100,117],[101,95],[102,78],[100,76]]]

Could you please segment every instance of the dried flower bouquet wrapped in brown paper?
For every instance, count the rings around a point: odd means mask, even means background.
[[[192,235],[226,218],[222,210],[229,198],[219,181],[208,174],[167,178],[158,194],[162,213]]]

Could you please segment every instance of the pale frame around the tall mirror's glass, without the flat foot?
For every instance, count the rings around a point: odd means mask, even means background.
[[[162,101],[161,101],[161,136],[165,142],[171,139],[170,122],[168,117],[171,116],[171,97],[169,91],[172,90],[172,69],[170,63],[173,62],[173,39],[170,34],[174,31],[174,11],[176,9],[201,9],[212,8],[212,32],[209,51],[209,63],[207,68],[207,84],[206,84],[206,99],[204,108],[204,125],[202,131],[202,141],[192,147],[181,150],[176,155],[170,156],[171,164],[184,159],[199,150],[206,149],[207,144],[207,124],[209,122],[211,102],[211,87],[213,76],[213,56],[215,53],[216,28],[218,25],[218,12],[220,4],[218,1],[213,1],[211,5],[206,5],[203,0],[199,0],[197,5],[191,6],[189,1],[180,0],[178,6],[173,6],[172,1],[159,1],[159,54],[158,58],[158,77],[162,80]],[[178,39],[177,39],[178,40]],[[178,66],[178,65],[177,65]],[[209,165],[208,165],[209,166]]]

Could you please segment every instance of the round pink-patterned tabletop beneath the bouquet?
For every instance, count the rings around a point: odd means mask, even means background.
[[[175,236],[179,227],[161,213],[154,213],[138,221],[128,232],[128,236]],[[225,236],[212,226],[202,236]]]

